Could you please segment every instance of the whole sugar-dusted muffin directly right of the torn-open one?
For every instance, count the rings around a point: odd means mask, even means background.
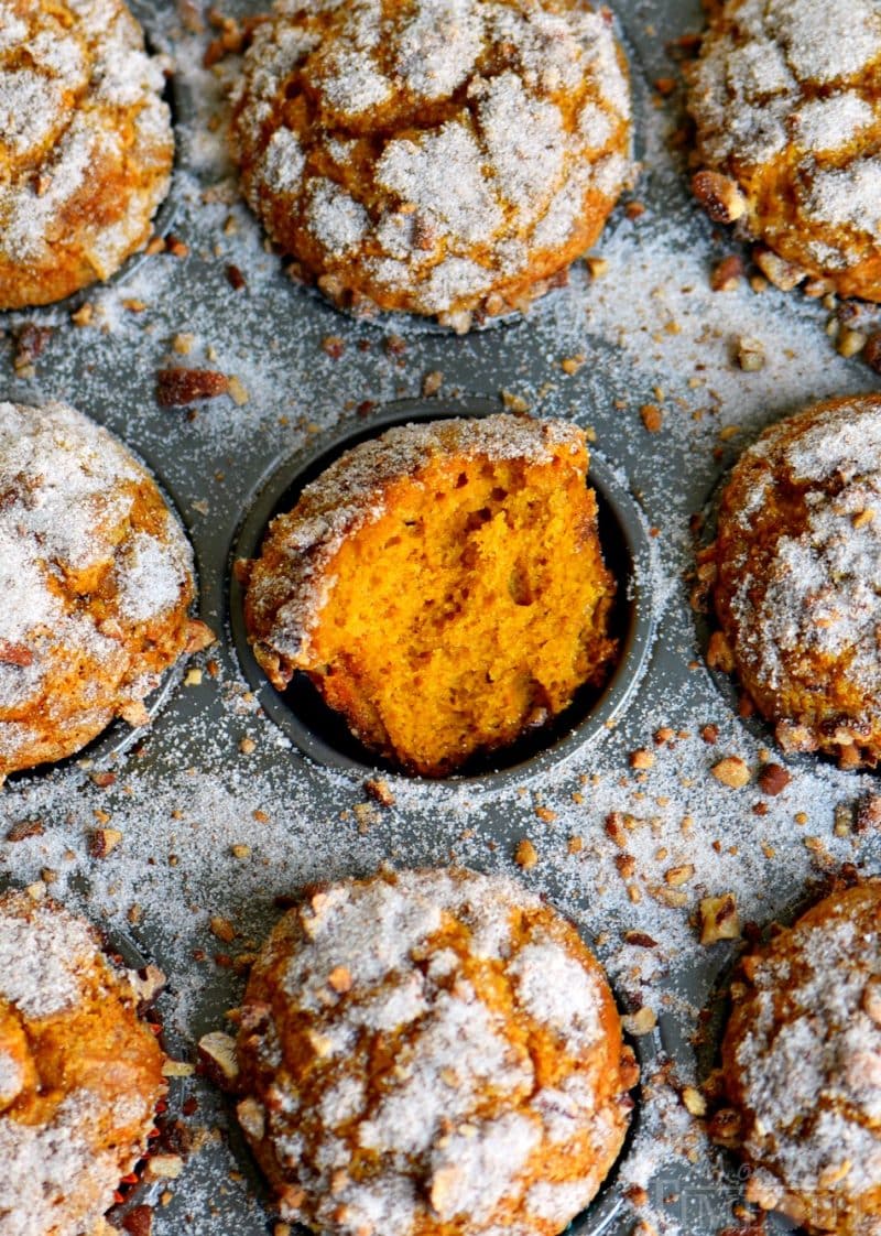
[[[874,768],[881,397],[822,403],[767,429],[731,472],[710,559],[720,660],[781,747]]]

